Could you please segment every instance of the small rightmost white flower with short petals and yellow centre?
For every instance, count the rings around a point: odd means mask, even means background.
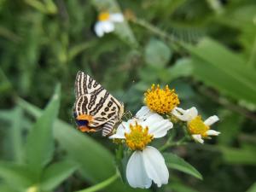
[[[172,114],[182,121],[188,123],[188,130],[191,137],[199,143],[204,143],[204,138],[210,136],[218,136],[220,132],[210,129],[210,126],[218,121],[218,116],[213,115],[203,121],[201,116],[198,115],[195,107],[183,110],[182,108],[174,108]]]

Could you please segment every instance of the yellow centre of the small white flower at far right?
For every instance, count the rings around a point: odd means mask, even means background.
[[[207,137],[207,131],[210,129],[209,126],[204,124],[200,115],[189,121],[188,127],[192,135],[197,134],[201,135],[201,137]]]

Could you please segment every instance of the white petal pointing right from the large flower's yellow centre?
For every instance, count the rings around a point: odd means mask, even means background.
[[[164,137],[167,134],[167,131],[172,129],[172,122],[168,119],[162,119],[156,121],[151,125],[148,125],[148,133],[153,134],[154,138]]]

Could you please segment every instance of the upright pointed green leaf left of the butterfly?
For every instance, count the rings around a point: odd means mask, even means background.
[[[52,128],[60,106],[60,85],[55,89],[47,108],[29,132],[26,141],[26,159],[38,174],[49,163],[54,151]]]

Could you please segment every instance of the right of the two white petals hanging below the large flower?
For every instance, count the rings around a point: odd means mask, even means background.
[[[160,187],[162,184],[168,183],[169,172],[166,162],[160,152],[153,147],[146,147],[143,150],[143,161],[148,177]]]

